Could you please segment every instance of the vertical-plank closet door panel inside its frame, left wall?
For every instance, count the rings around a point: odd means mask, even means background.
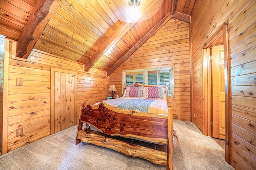
[[[54,73],[54,129],[57,133],[74,126],[74,74]]]

